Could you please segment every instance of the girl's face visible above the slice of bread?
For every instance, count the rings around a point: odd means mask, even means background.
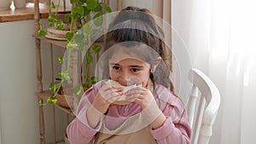
[[[124,86],[131,84],[148,84],[150,66],[148,63],[127,55],[124,52],[109,59],[109,76]]]

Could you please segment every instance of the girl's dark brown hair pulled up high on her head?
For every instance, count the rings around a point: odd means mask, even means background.
[[[154,49],[162,58],[163,65],[158,66],[157,69],[161,71],[154,72],[154,75],[151,74],[150,78],[156,83],[163,84],[173,90],[170,79],[172,72],[171,49],[166,47],[164,34],[148,9],[127,7],[114,18],[108,27],[107,45],[104,51],[113,47],[114,44],[124,42],[143,43]],[[129,49],[136,46],[136,43],[124,43],[123,46]]]

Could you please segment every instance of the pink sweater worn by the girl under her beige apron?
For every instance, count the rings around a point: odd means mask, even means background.
[[[82,96],[77,109],[78,115],[67,126],[67,136],[72,144],[92,144],[96,133],[102,128],[102,123],[109,130],[114,130],[125,121],[125,118],[141,112],[141,108],[133,103],[109,107],[107,117],[102,118],[96,128],[91,128],[87,122],[86,112],[101,86],[102,82],[93,85]],[[160,110],[166,115],[166,122],[159,129],[150,129],[155,142],[158,144],[189,144],[191,130],[187,111],[184,109],[182,101],[160,84],[155,84],[154,99]],[[113,122],[111,120],[113,118],[117,120]],[[147,139],[147,137],[144,138]]]

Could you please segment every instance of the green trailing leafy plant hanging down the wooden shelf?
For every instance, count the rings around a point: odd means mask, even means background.
[[[57,100],[55,99],[57,93],[61,90],[63,82],[70,80],[69,76],[69,67],[71,61],[71,54],[74,49],[77,49],[79,53],[85,53],[85,73],[84,73],[84,87],[77,85],[73,87],[73,94],[81,95],[84,89],[87,89],[91,84],[95,84],[97,78],[91,76],[90,74],[90,65],[93,62],[94,55],[98,55],[102,49],[102,46],[99,44],[90,46],[90,40],[93,39],[94,35],[98,32],[102,32],[102,15],[105,12],[111,12],[108,4],[103,3],[103,1],[97,0],[70,0],[70,3],[73,5],[70,13],[65,14],[65,20],[58,20],[56,14],[58,14],[58,9],[60,7],[60,0],[57,5],[51,3],[49,9],[55,9],[55,12],[50,13],[48,17],[48,25],[45,27],[46,31],[49,26],[55,24],[57,29],[61,29],[64,24],[69,26],[69,32],[67,32],[67,66],[66,69],[61,70],[59,73],[59,78],[61,78],[60,84],[50,83],[49,90],[53,92],[53,95],[49,95],[49,98],[46,103],[39,101],[39,105],[46,104],[55,104]],[[91,21],[93,25],[91,26]],[[46,31],[43,26],[40,26],[38,31],[38,36],[45,36]],[[96,27],[96,29],[95,29]],[[63,64],[63,58],[59,57],[58,61],[60,64]]]

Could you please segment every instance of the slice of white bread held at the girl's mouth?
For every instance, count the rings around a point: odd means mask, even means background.
[[[133,88],[136,88],[136,87],[141,87],[142,84],[133,84],[133,85],[129,85],[129,86],[124,86],[124,85],[121,85],[119,84],[118,82],[116,81],[113,81],[113,80],[108,80],[108,83],[113,87],[113,88],[123,88],[123,92],[127,92],[129,91],[130,89],[133,89]],[[126,104],[129,104],[131,103],[130,101],[127,101],[127,96],[126,95],[119,95],[120,98],[118,101],[113,101],[113,104],[117,104],[117,105],[126,105]]]

